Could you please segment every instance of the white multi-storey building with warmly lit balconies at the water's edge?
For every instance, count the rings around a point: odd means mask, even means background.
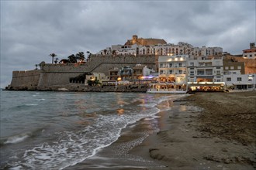
[[[188,58],[189,55],[159,56],[158,80],[150,84],[150,90],[185,91]]]

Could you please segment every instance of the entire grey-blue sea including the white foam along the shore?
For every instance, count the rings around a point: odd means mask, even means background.
[[[147,138],[159,130],[158,113],[171,110],[164,102],[184,96],[1,90],[0,169],[71,167],[144,120],[151,127],[141,134]]]

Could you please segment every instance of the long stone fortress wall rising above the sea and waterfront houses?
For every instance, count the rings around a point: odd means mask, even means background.
[[[109,74],[109,69],[135,66],[137,63],[156,70],[155,56],[97,56],[92,55],[87,63],[42,64],[40,70],[14,71],[9,88],[13,90],[52,90],[52,87],[68,85],[71,77],[86,72]]]

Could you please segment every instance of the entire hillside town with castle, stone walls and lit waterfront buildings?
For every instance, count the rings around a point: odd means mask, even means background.
[[[52,53],[52,63],[13,71],[5,90],[186,93],[256,88],[254,42],[248,42],[240,55],[232,55],[222,47],[172,44],[134,35],[123,45],[87,54],[58,61]]]

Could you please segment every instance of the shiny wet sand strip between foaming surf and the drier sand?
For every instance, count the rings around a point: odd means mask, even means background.
[[[157,107],[172,106],[172,100],[164,100]],[[177,108],[172,108],[176,110]],[[133,124],[123,128],[119,138],[106,148],[100,149],[95,155],[79,162],[76,165],[64,168],[68,169],[168,169],[154,159],[147,157],[147,151],[143,155],[133,152],[133,148],[141,148],[140,145],[150,136],[157,134],[159,129],[168,129],[165,123],[168,111],[164,110],[150,117],[144,117]],[[154,141],[153,141],[154,142]]]

